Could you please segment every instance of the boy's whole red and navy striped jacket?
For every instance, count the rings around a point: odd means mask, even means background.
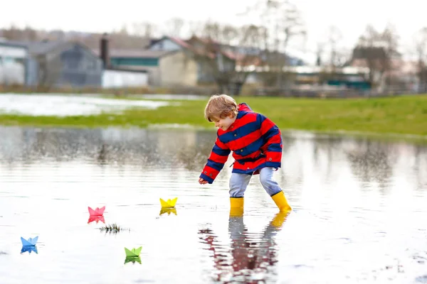
[[[200,178],[214,182],[233,151],[233,173],[256,175],[261,168],[280,168],[282,136],[278,126],[245,103],[238,105],[236,121],[217,138]]]

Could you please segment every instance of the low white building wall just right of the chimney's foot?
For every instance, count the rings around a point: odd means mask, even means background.
[[[147,84],[147,72],[104,70],[102,74],[103,88],[146,87]]]

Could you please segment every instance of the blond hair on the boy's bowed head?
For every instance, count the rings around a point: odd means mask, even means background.
[[[237,116],[238,109],[236,101],[226,94],[214,94],[209,99],[205,108],[205,119],[212,122],[212,119],[224,119],[233,114]]]

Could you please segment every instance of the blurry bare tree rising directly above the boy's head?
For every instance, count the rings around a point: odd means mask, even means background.
[[[202,80],[213,80],[219,92],[238,95],[248,75],[260,65],[263,28],[235,27],[208,22],[191,44],[194,59],[199,63]]]

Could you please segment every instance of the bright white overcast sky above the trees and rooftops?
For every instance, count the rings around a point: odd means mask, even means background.
[[[260,1],[260,0],[258,0]],[[240,23],[237,13],[257,0],[1,0],[0,26],[28,24],[33,28],[65,31],[109,32],[123,25],[165,23],[179,17],[186,21],[212,19]],[[343,38],[339,45],[351,49],[367,26],[382,29],[396,26],[401,52],[410,53],[413,36],[427,26],[426,0],[294,0],[307,29],[307,43],[292,46],[295,52],[313,55],[317,43],[325,40],[328,27],[337,26]]]

